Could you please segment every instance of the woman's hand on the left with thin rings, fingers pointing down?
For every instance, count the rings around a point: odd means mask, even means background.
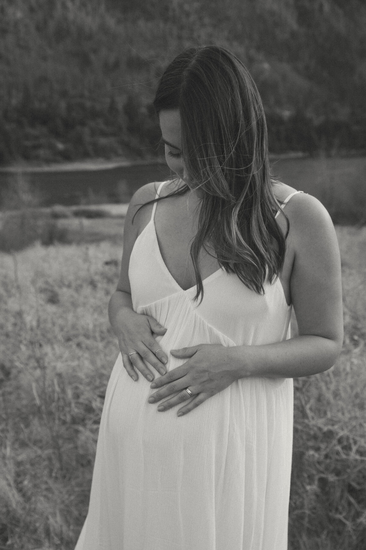
[[[166,333],[167,329],[162,327],[154,317],[136,313],[127,307],[119,312],[117,326],[119,333],[116,335],[121,350],[123,366],[128,375],[132,379],[137,380],[136,369],[151,382],[154,379],[154,375],[143,360],[147,361],[161,375],[165,375],[166,368],[164,365],[168,358],[156,342],[153,334],[162,336]],[[137,353],[133,353],[135,351]],[[129,353],[132,355],[128,355]]]

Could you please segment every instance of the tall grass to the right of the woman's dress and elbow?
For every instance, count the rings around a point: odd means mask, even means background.
[[[366,228],[337,227],[345,340],[329,371],[295,380],[290,541],[366,547]]]

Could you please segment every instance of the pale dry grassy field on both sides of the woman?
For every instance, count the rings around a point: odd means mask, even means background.
[[[295,380],[289,550],[366,546],[366,227],[336,230],[345,342],[330,371]],[[118,353],[107,305],[121,252],[116,230],[0,253],[0,548],[75,546]]]

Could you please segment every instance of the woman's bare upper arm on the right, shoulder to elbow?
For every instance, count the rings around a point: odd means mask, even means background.
[[[306,193],[291,197],[285,211],[293,258],[290,292],[299,334],[329,338],[341,346],[341,259],[331,217],[316,197]]]

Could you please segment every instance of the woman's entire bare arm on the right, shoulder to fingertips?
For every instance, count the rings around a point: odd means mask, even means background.
[[[149,402],[168,398],[162,405],[170,409],[187,400],[185,388],[189,388],[195,397],[178,410],[187,414],[239,378],[308,376],[334,364],[343,342],[339,247],[333,223],[320,202],[309,195],[296,197],[286,213],[289,257],[294,259],[291,299],[299,335],[268,345],[200,344],[171,350],[174,357],[187,362],[151,384],[160,389]]]

